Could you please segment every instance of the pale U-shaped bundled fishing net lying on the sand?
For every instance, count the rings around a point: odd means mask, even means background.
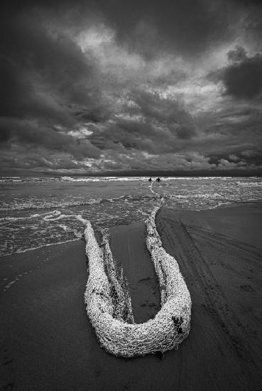
[[[178,262],[165,252],[156,230],[159,208],[155,207],[146,221],[146,245],[160,284],[161,309],[145,323],[134,323],[126,280],[111,254],[108,230],[102,232],[100,246],[89,222],[84,231],[89,261],[84,292],[87,314],[101,346],[114,355],[130,358],[164,353],[178,348],[190,331],[190,293]]]

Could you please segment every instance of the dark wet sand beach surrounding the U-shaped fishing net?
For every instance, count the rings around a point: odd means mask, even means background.
[[[1,257],[1,390],[261,390],[262,204],[162,208],[163,247],[192,298],[190,334],[163,357],[115,358],[84,306],[84,241]],[[143,223],[110,230],[136,322],[159,309]]]

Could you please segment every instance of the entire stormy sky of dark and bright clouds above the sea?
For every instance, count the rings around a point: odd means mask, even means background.
[[[1,175],[262,172],[260,1],[2,4]]]

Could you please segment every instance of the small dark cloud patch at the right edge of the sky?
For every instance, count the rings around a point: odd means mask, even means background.
[[[262,92],[262,55],[248,57],[244,48],[228,53],[232,64],[224,70],[226,93],[243,99],[252,99]]]

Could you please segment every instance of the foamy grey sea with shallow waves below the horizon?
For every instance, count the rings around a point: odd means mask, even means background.
[[[159,199],[175,210],[262,200],[262,178],[1,177],[0,256],[81,240],[95,229],[144,221]]]

